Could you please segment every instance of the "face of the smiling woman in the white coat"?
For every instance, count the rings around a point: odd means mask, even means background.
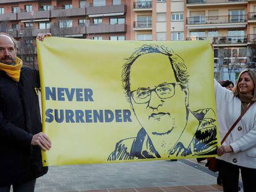
[[[254,82],[247,72],[242,73],[238,80],[238,88],[241,93],[254,94]]]

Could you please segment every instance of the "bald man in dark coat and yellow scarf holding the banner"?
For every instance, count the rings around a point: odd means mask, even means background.
[[[49,34],[39,35],[43,40]],[[17,57],[14,38],[0,33],[0,191],[33,192],[36,178],[48,171],[41,149],[51,148],[42,133],[39,73]]]

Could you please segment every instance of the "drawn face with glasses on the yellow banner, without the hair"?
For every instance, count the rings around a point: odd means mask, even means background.
[[[145,54],[130,69],[131,106],[150,135],[181,135],[187,123],[187,94],[174,77],[168,56]]]

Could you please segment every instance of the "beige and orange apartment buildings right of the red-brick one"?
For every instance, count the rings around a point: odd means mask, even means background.
[[[210,40],[218,80],[255,67],[256,1],[137,0],[131,17],[134,40]]]

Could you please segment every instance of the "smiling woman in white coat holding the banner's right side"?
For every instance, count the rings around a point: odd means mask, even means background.
[[[250,102],[256,101],[256,71],[240,73],[233,91],[223,88],[215,80],[215,99],[220,139],[237,120]],[[244,191],[256,188],[256,104],[253,104],[233,131],[218,147],[217,166],[223,191],[238,191],[241,170]]]

